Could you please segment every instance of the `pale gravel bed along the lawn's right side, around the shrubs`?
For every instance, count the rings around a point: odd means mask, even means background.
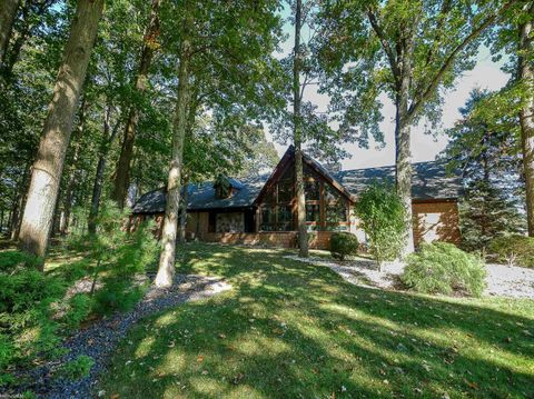
[[[395,288],[398,276],[404,269],[404,263],[400,261],[385,262],[382,271],[378,271],[374,261],[362,258],[343,263],[318,257],[303,259],[297,256],[287,256],[286,258],[326,266],[353,285],[382,289]],[[534,299],[534,269],[487,263],[486,270],[485,295]]]

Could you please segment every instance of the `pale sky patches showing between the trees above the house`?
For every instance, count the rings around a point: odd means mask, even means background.
[[[288,13],[285,10],[284,13]],[[285,32],[288,39],[283,46],[285,53],[291,51],[293,48],[293,27],[289,22],[285,26]],[[482,47],[477,54],[477,62],[473,70],[464,72],[456,80],[454,90],[449,90],[444,96],[443,119],[441,127],[433,134],[424,133],[424,121],[412,128],[412,154],[414,162],[434,160],[436,156],[446,147],[447,137],[444,131],[454,126],[461,118],[458,108],[463,107],[468,98],[471,90],[475,88],[498,90],[506,84],[510,77],[501,70],[502,62],[494,62],[487,48]],[[308,88],[304,93],[304,100],[312,101],[324,110],[328,99],[314,92],[313,88]],[[342,160],[344,170],[379,167],[395,163],[395,107],[385,97],[382,98],[384,120],[380,129],[384,132],[386,146],[382,149],[376,143],[369,142],[369,148],[358,148],[357,144],[347,144],[345,149],[352,154],[350,158]],[[270,138],[270,137],[269,137]],[[280,146],[275,142],[278,154],[285,152],[287,146]]]

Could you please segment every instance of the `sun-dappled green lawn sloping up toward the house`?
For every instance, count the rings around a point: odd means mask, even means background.
[[[534,301],[354,287],[284,251],[187,245],[180,273],[234,289],[130,331],[98,388],[120,398],[524,398]]]

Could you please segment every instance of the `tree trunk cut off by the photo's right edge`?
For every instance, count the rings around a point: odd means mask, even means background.
[[[520,111],[521,139],[523,147],[523,170],[526,189],[526,219],[528,236],[534,237],[534,56],[533,14],[534,1],[524,6],[526,21],[520,26],[518,79],[526,92]]]

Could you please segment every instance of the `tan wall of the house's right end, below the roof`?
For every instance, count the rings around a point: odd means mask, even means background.
[[[416,247],[422,242],[432,241],[459,243],[457,202],[414,202],[413,212]]]

